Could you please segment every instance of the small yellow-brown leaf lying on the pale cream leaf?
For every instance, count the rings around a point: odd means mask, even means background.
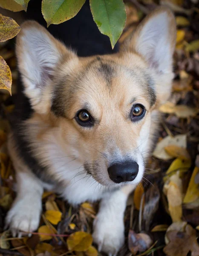
[[[164,148],[164,150],[172,157],[178,157],[179,159],[185,161],[190,160],[190,155],[185,148],[176,145],[168,145]]]

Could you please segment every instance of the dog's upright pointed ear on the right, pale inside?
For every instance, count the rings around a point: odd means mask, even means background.
[[[176,22],[173,13],[159,7],[137,27],[128,41],[128,49],[136,52],[150,67],[161,73],[172,71],[172,55],[176,44]]]

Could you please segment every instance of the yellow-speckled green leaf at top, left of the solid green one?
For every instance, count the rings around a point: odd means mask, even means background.
[[[60,24],[74,17],[86,0],[43,0],[41,11],[47,26]]]

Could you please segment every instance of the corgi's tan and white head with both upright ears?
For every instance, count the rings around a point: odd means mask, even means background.
[[[35,113],[60,128],[60,147],[102,185],[141,180],[156,109],[170,94],[175,41],[175,19],[164,8],[114,55],[78,58],[38,23],[22,25],[24,92]]]

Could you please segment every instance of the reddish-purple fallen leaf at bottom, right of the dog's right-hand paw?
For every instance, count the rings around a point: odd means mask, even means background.
[[[136,234],[133,230],[129,230],[128,247],[133,255],[145,252],[153,243],[150,236],[144,233]]]

